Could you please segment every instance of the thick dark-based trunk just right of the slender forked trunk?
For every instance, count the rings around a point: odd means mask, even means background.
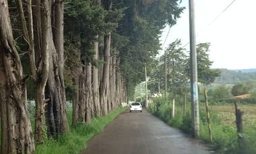
[[[51,4],[51,1],[49,1]],[[55,1],[55,15],[52,15],[53,21],[49,22],[49,27],[54,24],[53,30],[49,30],[49,49],[51,51],[49,58],[49,78],[46,84],[46,96],[49,98],[46,106],[46,124],[48,135],[55,139],[59,134],[68,129],[67,108],[65,98],[65,85],[63,78],[64,68],[64,48],[63,48],[63,1]],[[51,11],[49,11],[51,14]],[[53,33],[54,36],[53,37]]]

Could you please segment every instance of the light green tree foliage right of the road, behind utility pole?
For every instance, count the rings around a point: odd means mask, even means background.
[[[198,80],[202,84],[210,84],[220,75],[220,70],[210,68],[212,61],[210,61],[209,54],[207,54],[209,48],[210,44],[207,43],[197,45]],[[158,82],[160,87],[164,87],[165,84],[164,57],[160,57],[160,60],[154,64],[155,67],[152,69],[150,77],[153,83],[149,84],[149,88],[154,92],[158,92]],[[171,96],[187,94],[189,92],[190,58],[185,54],[185,49],[181,48],[181,40],[176,40],[168,46],[166,61],[169,94]],[[201,94],[203,94],[203,90],[201,90]]]

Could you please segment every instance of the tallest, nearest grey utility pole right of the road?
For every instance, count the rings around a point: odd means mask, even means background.
[[[191,114],[195,138],[199,138],[199,100],[197,85],[197,52],[195,42],[195,3],[189,0],[189,34],[191,60]]]

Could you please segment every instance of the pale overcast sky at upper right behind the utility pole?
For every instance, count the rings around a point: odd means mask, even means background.
[[[212,68],[256,68],[256,1],[236,0],[222,13],[232,1],[195,0],[197,44],[212,44]],[[170,29],[164,48],[176,39],[181,39],[183,45],[189,42],[189,0],[183,0],[181,6],[186,9]],[[162,44],[168,29],[162,33]],[[189,44],[185,48],[189,50]]]

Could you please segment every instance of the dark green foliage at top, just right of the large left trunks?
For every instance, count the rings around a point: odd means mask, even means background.
[[[70,40],[69,43],[73,45],[79,42],[82,60],[91,62],[95,36],[106,31],[104,19],[107,11],[91,0],[69,1],[66,7],[69,9],[65,11],[65,40]]]

